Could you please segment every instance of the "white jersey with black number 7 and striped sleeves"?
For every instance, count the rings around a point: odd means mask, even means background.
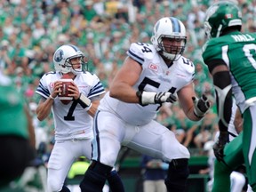
[[[47,99],[52,92],[53,84],[61,78],[60,72],[49,72],[40,79],[36,93]],[[105,93],[100,79],[90,72],[84,72],[74,79],[80,92],[89,99]],[[91,138],[92,116],[76,100],[71,100],[68,105],[61,103],[57,97],[52,104],[52,114],[55,125],[55,140],[68,140],[74,138]]]

